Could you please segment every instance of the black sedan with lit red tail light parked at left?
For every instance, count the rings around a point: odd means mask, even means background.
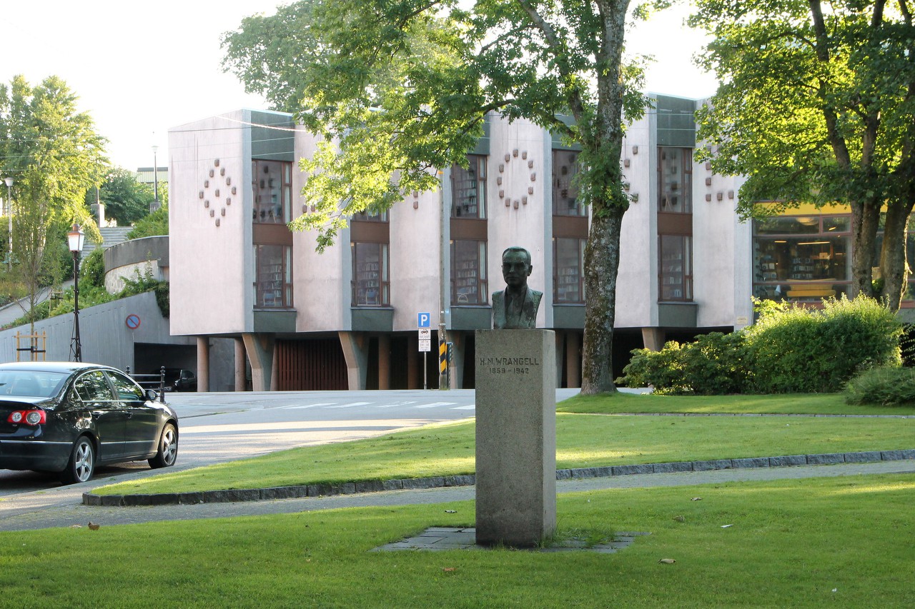
[[[124,372],[98,364],[0,364],[0,469],[59,472],[64,484],[96,465],[175,465],[178,414]]]

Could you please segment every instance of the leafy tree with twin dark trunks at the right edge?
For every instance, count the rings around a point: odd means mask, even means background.
[[[882,294],[905,292],[915,202],[915,28],[910,0],[698,0],[715,36],[701,63],[721,86],[699,136],[719,173],[747,176],[739,210],[839,202],[852,208],[853,288],[872,294],[877,230]],[[881,219],[881,207],[886,216]]]

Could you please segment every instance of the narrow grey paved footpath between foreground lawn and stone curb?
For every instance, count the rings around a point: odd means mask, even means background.
[[[769,481],[840,475],[877,474],[915,475],[915,459],[880,461],[843,465],[797,465],[791,467],[758,467],[718,469],[703,472],[670,474],[634,474],[559,480],[559,494],[608,488],[648,488],[657,486],[692,486],[727,482]],[[40,491],[37,491],[40,492]],[[206,503],[196,505],[167,505],[137,508],[109,508],[73,505],[24,511],[10,517],[0,517],[0,530],[30,530],[85,526],[90,520],[102,526],[157,522],[162,520],[191,520],[196,518],[230,518],[289,514],[336,508],[369,508],[405,505],[425,505],[467,501],[475,497],[473,486],[446,486],[425,490],[397,490],[339,495],[334,497],[303,497],[241,503]]]

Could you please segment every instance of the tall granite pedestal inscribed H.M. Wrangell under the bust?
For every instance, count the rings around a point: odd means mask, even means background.
[[[556,528],[552,330],[477,330],[477,543],[525,548]]]

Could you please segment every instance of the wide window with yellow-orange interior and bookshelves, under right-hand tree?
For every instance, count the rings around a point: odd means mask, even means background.
[[[851,287],[851,216],[775,216],[753,226],[753,294],[819,302]]]

